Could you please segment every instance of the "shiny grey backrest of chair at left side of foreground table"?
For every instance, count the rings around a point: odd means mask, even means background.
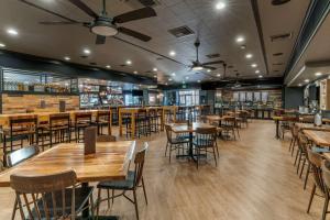
[[[36,154],[38,154],[38,147],[34,145],[16,150],[8,155],[8,166],[15,166]]]

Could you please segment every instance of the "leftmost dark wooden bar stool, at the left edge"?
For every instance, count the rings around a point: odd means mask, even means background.
[[[24,140],[30,141],[30,145],[37,143],[37,117],[15,116],[9,118],[9,129],[3,130],[3,163],[7,166],[7,156],[14,151],[14,146],[23,147]],[[19,144],[13,142],[20,141]],[[9,150],[7,143],[10,142]]]

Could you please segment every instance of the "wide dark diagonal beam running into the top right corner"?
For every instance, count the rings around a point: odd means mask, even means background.
[[[285,84],[330,11],[330,0],[311,0],[293,48],[284,77]],[[328,42],[324,42],[328,43]],[[293,77],[295,78],[295,77]]]

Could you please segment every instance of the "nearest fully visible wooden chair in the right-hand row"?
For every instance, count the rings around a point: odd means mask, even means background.
[[[316,189],[319,189],[322,197],[324,197],[326,194],[324,194],[324,183],[323,183],[322,169],[321,169],[323,158],[322,158],[321,154],[315,153],[311,150],[307,150],[307,153],[308,153],[308,158],[310,162],[311,173],[314,176],[312,188],[310,191],[310,198],[309,198],[308,208],[307,208],[307,213],[309,213],[314,196],[316,195]],[[323,207],[323,209],[324,208],[326,207]]]

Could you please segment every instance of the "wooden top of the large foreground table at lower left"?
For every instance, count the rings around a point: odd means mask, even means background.
[[[84,144],[63,143],[0,174],[0,187],[10,186],[11,174],[48,175],[74,169],[79,183],[124,179],[135,141],[97,143],[96,154],[84,155]]]

